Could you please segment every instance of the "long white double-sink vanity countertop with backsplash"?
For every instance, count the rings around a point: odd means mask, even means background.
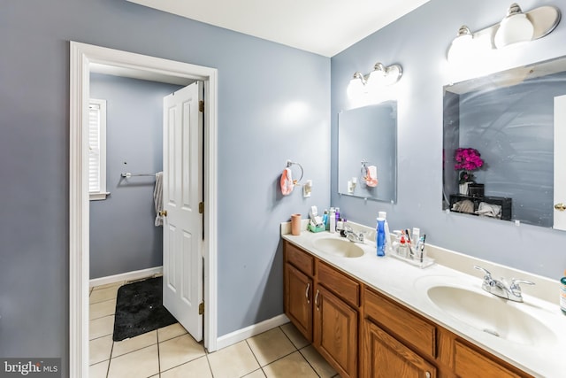
[[[363,225],[348,222],[356,230],[375,231]],[[499,266],[485,260],[470,258],[457,252],[442,250],[427,245],[427,252],[437,263],[424,269],[412,266],[397,258],[376,256],[374,241],[356,243],[363,248],[364,254],[359,258],[344,258],[319,251],[315,246],[317,239],[323,237],[340,238],[340,234],[329,232],[311,233],[306,230],[307,222],[303,220],[301,235],[290,235],[288,223],[281,224],[281,236],[314,256],[324,260],[341,271],[356,277],[359,281],[410,309],[422,314],[440,326],[447,328],[458,336],[475,343],[494,355],[517,366],[528,374],[544,377],[566,376],[566,316],[558,305],[559,283],[525,272],[516,271],[506,266]],[[371,235],[370,235],[371,238]],[[445,265],[446,263],[446,265]],[[486,296],[492,296],[481,289],[483,274],[473,268],[484,266],[491,271],[493,277],[501,275],[510,279],[524,278],[536,283],[536,286],[523,286],[524,303],[516,303],[501,299],[505,305],[526,312],[539,320],[552,331],[549,343],[518,343],[490,335],[481,329],[472,328],[462,320],[458,320],[444,312],[427,297],[426,291],[431,285],[445,282],[451,286],[471,289]],[[501,274],[501,275],[500,275]],[[536,288],[536,289],[535,289]],[[548,291],[551,291],[548,293]],[[554,298],[555,302],[550,302]],[[546,300],[545,300],[546,299]],[[509,320],[512,321],[512,320]]]

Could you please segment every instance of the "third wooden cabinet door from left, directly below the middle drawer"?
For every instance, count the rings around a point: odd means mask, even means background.
[[[370,320],[363,321],[362,376],[436,378],[437,369]]]

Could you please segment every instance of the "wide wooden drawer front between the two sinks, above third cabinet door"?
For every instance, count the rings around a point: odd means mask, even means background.
[[[426,356],[436,358],[436,327],[428,321],[369,289],[365,289],[363,308],[370,317]]]

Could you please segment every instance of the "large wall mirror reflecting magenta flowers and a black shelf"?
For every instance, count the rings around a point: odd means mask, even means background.
[[[443,209],[563,229],[564,95],[566,58],[445,86]]]

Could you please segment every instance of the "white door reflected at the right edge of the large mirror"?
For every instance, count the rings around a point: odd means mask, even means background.
[[[566,230],[566,96],[555,97],[555,222],[554,228]]]

